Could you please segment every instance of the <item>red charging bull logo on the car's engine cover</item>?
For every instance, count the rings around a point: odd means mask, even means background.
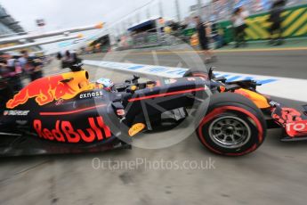
[[[6,108],[13,109],[20,104],[28,102],[30,98],[35,98],[38,105],[44,105],[54,100],[74,97],[77,92],[69,86],[69,83],[61,82],[65,79],[64,77],[65,74],[36,79],[8,101]]]

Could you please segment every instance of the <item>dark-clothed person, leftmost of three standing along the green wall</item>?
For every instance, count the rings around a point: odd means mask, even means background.
[[[216,59],[214,56],[214,52],[209,48],[209,41],[211,36],[211,28],[205,25],[201,20],[200,17],[194,17],[194,20],[197,24],[198,29],[198,42],[201,50],[205,54],[205,61],[211,62]]]

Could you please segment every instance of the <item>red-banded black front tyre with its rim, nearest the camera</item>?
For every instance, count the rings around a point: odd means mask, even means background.
[[[254,152],[264,141],[266,123],[254,102],[233,94],[213,94],[197,135],[211,152],[242,156]]]

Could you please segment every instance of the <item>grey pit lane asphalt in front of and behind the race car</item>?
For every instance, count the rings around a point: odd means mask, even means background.
[[[296,52],[295,52],[296,53]],[[288,57],[274,52],[255,53],[246,58],[238,53],[221,53],[219,70],[257,75],[306,78],[303,69],[305,56]],[[279,56],[282,55],[283,57]],[[108,57],[116,61],[118,56]],[[117,54],[118,55],[118,54]],[[278,57],[272,57],[272,56]],[[260,57],[262,56],[262,57]],[[84,56],[102,60],[101,54]],[[160,55],[161,65],[177,66],[174,54]],[[276,58],[276,59],[275,59]],[[283,61],[282,59],[287,58]],[[297,58],[298,64],[288,68],[286,61]],[[237,59],[237,60],[236,60]],[[275,60],[274,60],[275,59]],[[129,54],[123,61],[154,64],[148,54]],[[248,66],[248,62],[251,62]],[[253,62],[253,63],[252,63]],[[267,64],[266,64],[267,62]],[[274,63],[273,63],[274,62]],[[190,63],[190,62],[188,62]],[[233,63],[233,64],[231,64]],[[266,69],[257,69],[257,63]],[[54,73],[57,62],[45,69]],[[183,64],[183,63],[182,63]],[[223,68],[221,66],[223,65]],[[274,69],[279,68],[280,70]],[[297,68],[297,69],[296,69]],[[121,81],[131,75],[109,70],[85,67],[96,75]],[[62,70],[63,71],[63,70]],[[95,75],[95,76],[96,76]],[[279,101],[298,106],[300,102]],[[163,134],[161,134],[163,135]],[[254,153],[240,158],[225,158],[207,152],[196,135],[174,146],[159,149],[121,150],[95,154],[37,156],[0,159],[1,204],[305,204],[307,200],[307,142],[280,143],[279,130],[271,130],[266,141]],[[149,136],[150,137],[150,136]],[[165,135],[167,137],[167,135]],[[155,160],[214,160],[211,169],[95,169],[93,159],[117,161],[136,159]]]

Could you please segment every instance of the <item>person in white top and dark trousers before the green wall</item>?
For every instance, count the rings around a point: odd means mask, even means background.
[[[235,48],[238,48],[240,45],[246,45],[246,18],[248,13],[243,10],[243,7],[238,7],[232,15],[231,21],[234,27],[234,34],[235,34],[235,41],[236,45]]]

